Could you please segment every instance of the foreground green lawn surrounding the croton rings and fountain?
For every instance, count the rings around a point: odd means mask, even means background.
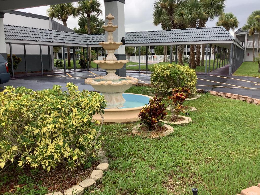
[[[257,185],[259,107],[209,94],[185,105],[198,109],[190,115],[192,123],[173,126],[174,133],[164,138],[133,136],[137,123],[105,125],[109,171],[91,194],[191,195],[197,187],[199,195],[230,195]]]

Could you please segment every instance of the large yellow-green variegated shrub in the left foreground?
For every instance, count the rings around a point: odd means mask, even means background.
[[[73,83],[66,87],[34,92],[7,86],[0,92],[0,168],[15,159],[21,167],[48,171],[91,164],[103,139],[91,120],[103,112],[105,100],[96,92],[80,92]]]

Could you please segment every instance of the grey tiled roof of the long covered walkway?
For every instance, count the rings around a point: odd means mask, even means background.
[[[4,25],[4,33],[5,42],[9,43],[10,46],[11,44],[63,46],[63,52],[64,46],[83,48],[101,47],[98,43],[106,41],[105,34],[77,34],[12,25]],[[171,53],[172,46],[200,44],[207,44],[207,47],[215,46],[218,47],[218,52],[222,51],[220,52],[220,55],[222,54],[224,57],[222,60],[226,64],[230,64],[229,74],[233,73],[243,62],[244,47],[224,27],[125,33],[125,46],[171,46]],[[228,58],[225,55],[227,52],[230,53]],[[205,66],[206,68],[207,66]],[[207,69],[205,73],[207,73]]]

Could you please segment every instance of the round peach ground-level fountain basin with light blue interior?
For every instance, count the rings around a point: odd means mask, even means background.
[[[149,103],[150,99],[153,98],[147,95],[130,93],[124,93],[123,97],[126,100],[123,107],[116,109],[105,109],[105,114],[103,114],[104,122],[126,123],[138,121],[138,114],[140,113],[140,110]],[[101,121],[100,114],[94,115],[93,119]]]

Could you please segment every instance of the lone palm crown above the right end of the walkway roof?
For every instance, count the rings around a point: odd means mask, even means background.
[[[239,22],[237,17],[231,12],[222,14],[219,16],[218,22],[216,22],[216,26],[223,26],[227,31],[230,31],[230,29],[235,31],[235,28],[238,28],[238,24]]]

